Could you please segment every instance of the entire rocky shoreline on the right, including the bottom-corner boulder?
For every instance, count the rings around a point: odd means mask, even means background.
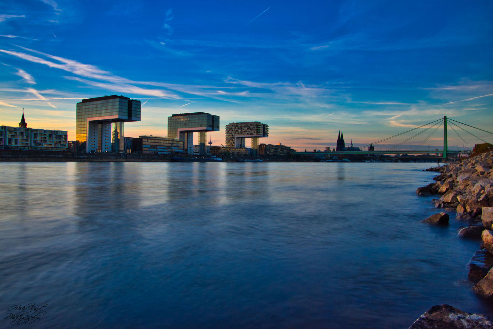
[[[435,208],[456,211],[459,238],[481,239],[472,257],[468,279],[478,296],[493,301],[493,152],[464,159],[461,162],[426,171],[437,171],[435,183],[416,190],[419,196],[438,195],[432,199]],[[445,212],[434,214],[422,222],[448,225]],[[466,320],[467,319],[467,320]],[[469,314],[450,305],[436,305],[425,312],[410,329],[424,328],[493,328],[493,320],[481,314]]]

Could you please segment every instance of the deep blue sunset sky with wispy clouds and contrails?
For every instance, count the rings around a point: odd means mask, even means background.
[[[492,14],[484,0],[2,1],[0,125],[24,107],[29,127],[74,139],[75,103],[117,94],[145,102],[130,137],[165,136],[169,115],[196,111],[220,116],[214,145],[242,121],[298,150],[444,115],[493,131]]]

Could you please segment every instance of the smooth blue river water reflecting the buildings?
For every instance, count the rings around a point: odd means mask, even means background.
[[[407,328],[492,316],[426,163],[1,163],[0,328]],[[453,218],[453,216],[452,216]],[[12,311],[10,311],[12,312]]]

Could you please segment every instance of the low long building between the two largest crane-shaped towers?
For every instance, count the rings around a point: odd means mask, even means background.
[[[139,136],[133,138],[132,150],[142,154],[183,153],[184,141],[172,137]]]

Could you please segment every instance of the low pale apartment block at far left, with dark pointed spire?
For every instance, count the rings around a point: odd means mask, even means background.
[[[68,132],[28,128],[24,113],[19,127],[0,126],[0,148],[9,150],[67,151]]]

